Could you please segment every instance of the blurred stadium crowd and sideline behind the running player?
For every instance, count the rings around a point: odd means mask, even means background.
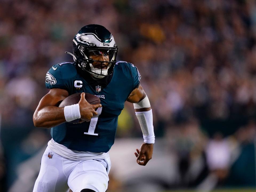
[[[32,121],[45,74],[72,61],[64,52],[92,23],[114,35],[119,60],[138,67],[154,114],[153,159],[138,166],[142,134],[126,103],[108,191],[254,191],[253,0],[2,0],[0,191],[32,190],[50,139]]]

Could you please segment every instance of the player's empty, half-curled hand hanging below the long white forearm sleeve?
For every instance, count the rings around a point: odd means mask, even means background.
[[[135,156],[137,157],[137,163],[145,166],[150,159],[152,159],[154,144],[142,143],[141,148],[136,149]]]

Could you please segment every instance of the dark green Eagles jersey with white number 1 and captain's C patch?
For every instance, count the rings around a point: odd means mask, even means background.
[[[69,95],[90,93],[99,97],[102,104],[97,110],[98,116],[93,117],[90,122],[62,123],[52,127],[51,136],[54,141],[77,151],[109,151],[114,143],[118,115],[130,93],[138,87],[140,78],[137,67],[118,61],[111,81],[103,88],[100,84],[89,84],[78,73],[74,63],[63,62],[52,66],[45,78],[48,89],[65,89]]]

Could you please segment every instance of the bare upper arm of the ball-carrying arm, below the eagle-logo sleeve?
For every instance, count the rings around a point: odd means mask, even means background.
[[[61,101],[69,96],[69,93],[65,89],[50,89],[39,102],[36,111],[46,107],[46,106],[56,106],[58,107]]]

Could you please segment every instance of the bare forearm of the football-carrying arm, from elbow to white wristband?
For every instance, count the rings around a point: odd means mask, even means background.
[[[51,128],[66,122],[64,107],[46,106],[36,110],[33,115],[33,122],[36,127]]]

